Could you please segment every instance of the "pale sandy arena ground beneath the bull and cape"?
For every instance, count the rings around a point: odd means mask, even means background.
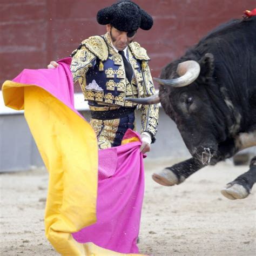
[[[206,167],[183,184],[160,186],[154,171],[176,163],[146,160],[139,248],[151,255],[256,255],[256,196],[228,200],[220,189],[247,171],[231,161]],[[44,235],[48,174],[1,174],[1,255],[58,255]]]

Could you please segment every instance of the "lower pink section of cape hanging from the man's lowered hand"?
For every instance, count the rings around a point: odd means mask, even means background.
[[[136,136],[128,130],[124,139]],[[141,142],[99,151],[97,223],[74,233],[78,242],[123,253],[138,253],[144,194]]]

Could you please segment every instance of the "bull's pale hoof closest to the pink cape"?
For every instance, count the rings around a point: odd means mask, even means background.
[[[169,169],[164,169],[158,173],[153,173],[152,179],[163,186],[173,186],[179,184],[185,180],[179,181],[175,173]]]

